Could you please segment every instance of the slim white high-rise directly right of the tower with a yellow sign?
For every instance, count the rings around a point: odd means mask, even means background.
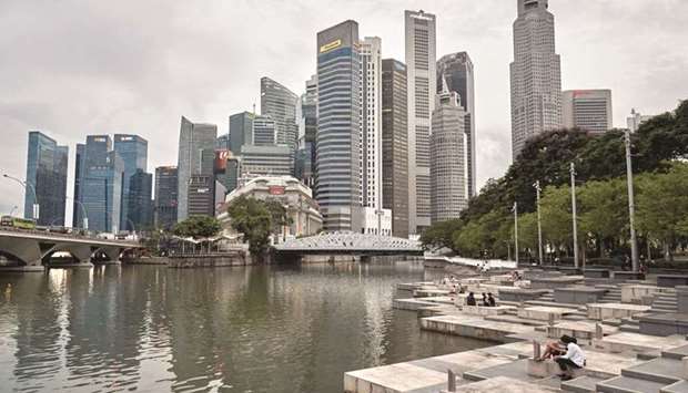
[[[392,211],[382,209],[382,41],[361,42],[361,206],[364,234],[391,235]],[[378,217],[381,216],[381,217]],[[387,216],[387,217],[385,217]],[[383,228],[383,223],[389,223]]]

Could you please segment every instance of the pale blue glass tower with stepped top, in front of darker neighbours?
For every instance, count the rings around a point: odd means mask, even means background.
[[[90,141],[89,141],[90,138]],[[110,141],[110,137],[107,137]],[[87,162],[89,162],[89,142],[100,145],[103,136],[87,137]],[[92,148],[91,151],[95,151]],[[122,208],[122,182],[124,163],[113,152],[107,152],[104,159],[91,159],[82,177],[81,203],[89,220],[89,230],[117,234],[120,230],[120,215]]]

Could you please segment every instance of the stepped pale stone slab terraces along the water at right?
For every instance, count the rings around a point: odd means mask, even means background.
[[[566,269],[564,269],[566,270]],[[564,273],[475,273],[445,283],[408,282],[394,308],[417,313],[423,330],[494,347],[346,372],[346,393],[687,392],[688,277],[631,277],[603,269]],[[679,283],[679,286],[677,286]],[[463,293],[456,293],[456,289]],[[466,306],[492,292],[498,306]],[[575,337],[587,364],[575,379],[535,362],[547,341]],[[455,375],[453,379],[449,371]]]

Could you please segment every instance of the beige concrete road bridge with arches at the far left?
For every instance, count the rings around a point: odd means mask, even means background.
[[[0,267],[0,271],[42,271],[43,263],[55,252],[68,252],[82,266],[91,266],[99,255],[118,261],[123,251],[139,248],[143,247],[136,241],[0,228],[0,255],[17,261],[17,265]]]

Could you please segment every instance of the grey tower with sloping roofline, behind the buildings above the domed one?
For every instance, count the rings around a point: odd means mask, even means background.
[[[297,102],[299,96],[291,90],[270,77],[261,77],[261,114],[275,122],[275,143],[290,146],[292,152],[296,152],[299,139]]]

